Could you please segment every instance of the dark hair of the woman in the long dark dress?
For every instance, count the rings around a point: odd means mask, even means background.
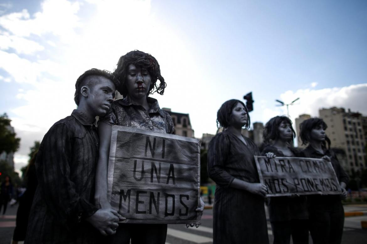
[[[231,99],[231,100],[225,101],[222,104],[222,106],[219,108],[217,112],[217,126],[218,124],[224,128],[227,128],[230,126],[230,116],[232,114],[233,108],[237,105],[237,103],[242,104],[246,110],[247,122],[245,125],[245,129],[247,130],[248,128],[250,128],[251,123],[250,123],[250,115],[248,114],[248,109],[242,101],[237,100],[237,99]]]

